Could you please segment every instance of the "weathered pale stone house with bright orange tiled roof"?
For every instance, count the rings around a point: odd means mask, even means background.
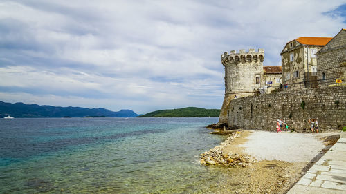
[[[286,90],[317,87],[316,53],[331,37],[299,37],[289,41],[281,52],[282,84]]]

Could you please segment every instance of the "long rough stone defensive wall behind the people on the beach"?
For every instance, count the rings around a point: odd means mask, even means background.
[[[290,129],[311,132],[308,119],[318,118],[320,131],[346,126],[346,86],[307,88],[233,99],[228,126],[276,131],[277,119]]]

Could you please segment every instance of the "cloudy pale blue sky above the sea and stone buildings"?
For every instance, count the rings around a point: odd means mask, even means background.
[[[346,1],[0,0],[0,101],[131,109],[221,108],[221,54],[346,28]]]

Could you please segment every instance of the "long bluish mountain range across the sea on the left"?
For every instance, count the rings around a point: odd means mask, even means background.
[[[10,115],[15,118],[34,117],[137,117],[132,110],[113,112],[105,108],[80,108],[60,106],[39,106],[37,104],[15,104],[0,101],[0,118]]]

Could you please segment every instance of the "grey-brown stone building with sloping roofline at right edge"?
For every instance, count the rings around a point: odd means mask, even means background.
[[[341,29],[317,56],[318,86],[336,84],[336,79],[346,81],[346,29]]]

